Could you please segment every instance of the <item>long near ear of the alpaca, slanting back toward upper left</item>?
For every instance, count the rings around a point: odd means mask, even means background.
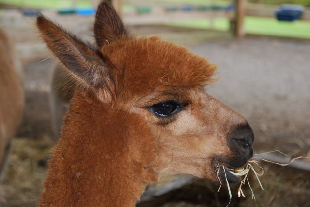
[[[111,97],[114,84],[105,64],[106,59],[97,50],[44,16],[38,16],[36,23],[48,48],[78,82],[94,91],[102,91],[105,97]]]

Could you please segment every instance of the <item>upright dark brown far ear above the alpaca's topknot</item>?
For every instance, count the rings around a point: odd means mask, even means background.
[[[114,8],[107,2],[102,2],[96,12],[94,23],[96,43],[102,47],[114,39],[127,36],[123,22]]]

